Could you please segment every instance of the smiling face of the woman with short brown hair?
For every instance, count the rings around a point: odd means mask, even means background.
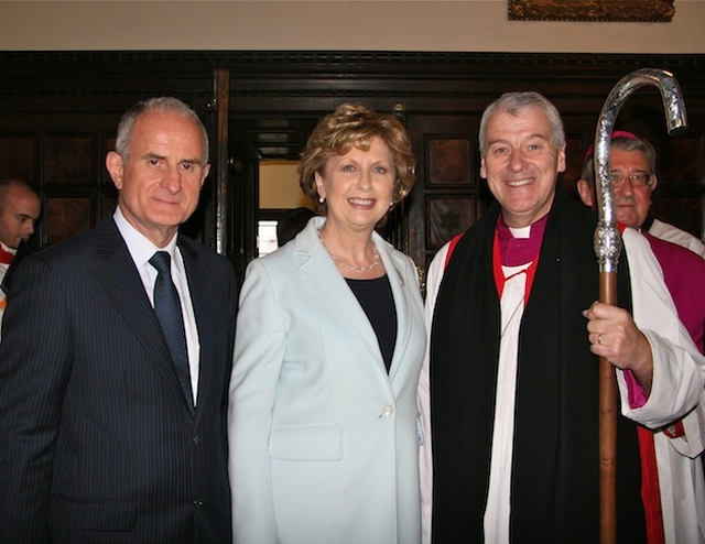
[[[325,172],[315,174],[328,205],[326,228],[371,232],[389,211],[394,178],[391,152],[379,137],[367,151],[354,146],[328,159]]]

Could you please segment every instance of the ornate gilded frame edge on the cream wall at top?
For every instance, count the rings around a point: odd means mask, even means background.
[[[670,22],[674,0],[508,0],[510,21]]]

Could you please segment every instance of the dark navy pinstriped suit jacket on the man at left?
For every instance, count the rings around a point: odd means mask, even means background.
[[[0,342],[0,542],[229,542],[236,279],[177,243],[200,339],[193,415],[111,217],[22,262]]]

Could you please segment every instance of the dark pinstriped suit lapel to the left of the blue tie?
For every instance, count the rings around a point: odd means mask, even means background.
[[[97,271],[108,297],[144,347],[149,359],[164,374],[180,398],[184,399],[164,335],[144,292],[134,261],[112,217],[100,224],[96,236],[96,258],[100,262]],[[185,399],[184,409],[187,410]]]

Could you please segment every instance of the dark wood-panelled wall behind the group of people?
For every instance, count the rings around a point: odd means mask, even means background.
[[[703,238],[705,55],[402,52],[15,52],[0,53],[0,175],[37,187],[37,246],[87,230],[115,206],[104,167],[120,115],[137,100],[173,95],[212,133],[214,170],[185,229],[230,254],[254,255],[257,165],[295,159],[317,119],[345,100],[394,111],[409,128],[417,183],[388,237],[420,266],[482,214],[477,129],[507,90],[538,90],[561,110],[573,188],[612,86],[641,67],[673,72],[690,129],[669,138],[658,90],[625,104],[617,128],[659,150],[657,215]]]

